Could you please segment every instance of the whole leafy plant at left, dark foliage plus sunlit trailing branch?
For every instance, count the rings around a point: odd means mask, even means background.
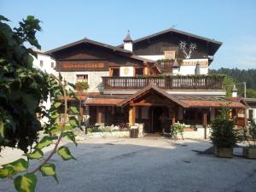
[[[40,48],[35,38],[36,32],[41,30],[40,21],[27,16],[26,20],[20,22],[20,27],[14,30],[6,21],[9,20],[0,15],[0,148],[20,148],[25,152],[26,160],[15,160],[0,167],[0,178],[14,180],[17,191],[33,192],[38,182],[36,172],[58,181],[55,165],[49,163],[54,154],[59,154],[63,160],[75,160],[69,149],[66,146],[59,147],[59,144],[62,137],[77,144],[70,126],[76,128],[79,123],[75,117],[67,119],[67,111],[72,110],[75,114],[79,114],[79,111],[74,107],[67,108],[67,97],[76,98],[70,89],[70,86],[74,88],[73,84],[62,81],[61,76],[57,79],[32,68],[32,55],[35,53],[32,49],[26,49],[24,44]],[[39,103],[47,101],[48,95],[52,105],[46,110]],[[60,96],[64,97],[64,103],[59,102]],[[60,117],[59,108],[62,106],[65,108],[64,123],[59,125],[56,119]],[[37,113],[49,118],[43,127]],[[67,124],[70,125],[68,128]],[[44,131],[44,137],[38,142],[38,131],[41,130]],[[44,157],[42,149],[51,144],[54,144],[54,149]],[[30,160],[39,159],[43,160],[32,171],[28,171]]]

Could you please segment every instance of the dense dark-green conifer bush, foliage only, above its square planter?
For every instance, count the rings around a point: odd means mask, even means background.
[[[234,130],[234,121],[228,117],[228,108],[212,121],[212,143],[218,148],[233,148],[238,141],[238,133]]]

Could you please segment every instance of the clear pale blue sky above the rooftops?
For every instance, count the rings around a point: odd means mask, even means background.
[[[256,0],[0,0],[0,15],[18,26],[26,15],[42,21],[43,50],[82,38],[122,44],[175,27],[223,45],[211,68],[256,68]]]

